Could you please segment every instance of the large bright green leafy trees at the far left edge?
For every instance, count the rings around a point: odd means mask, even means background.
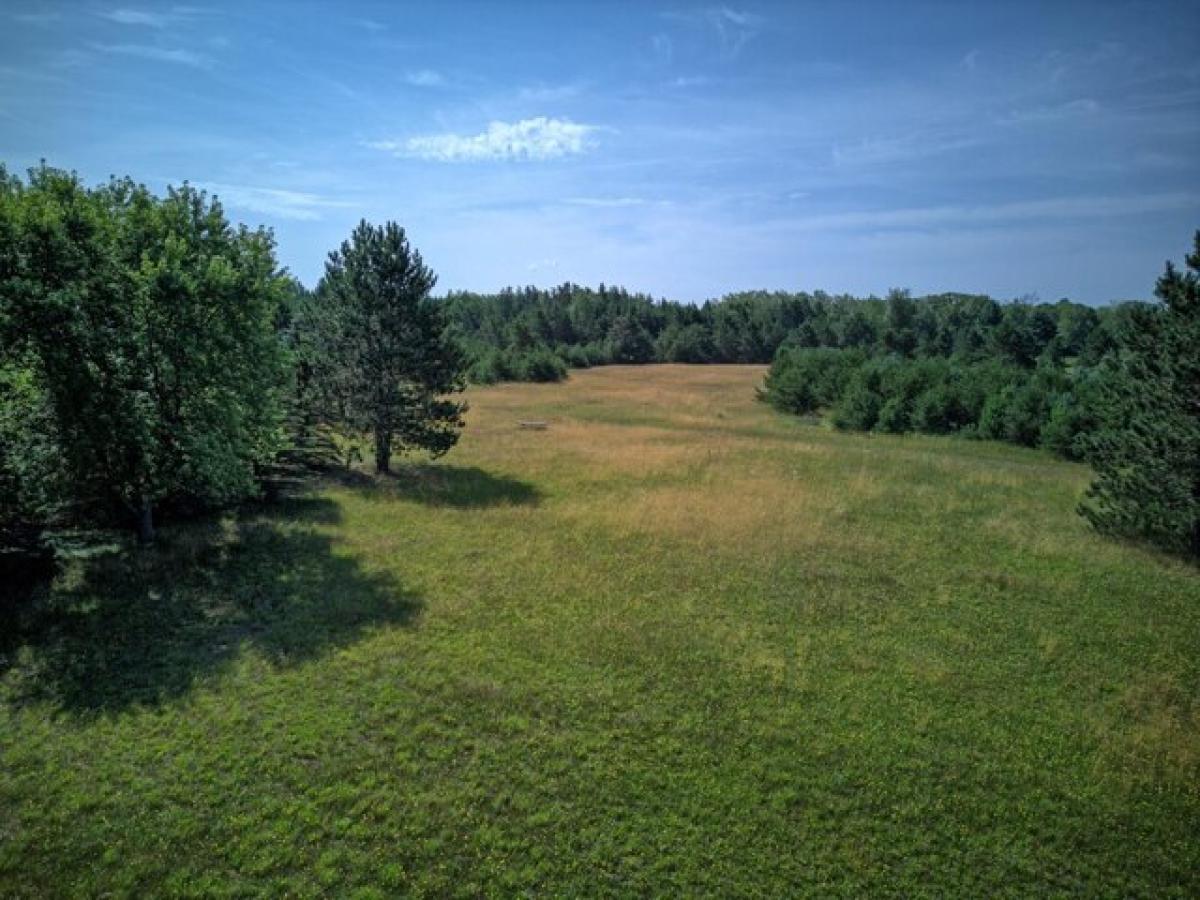
[[[78,503],[143,541],[167,499],[253,494],[278,449],[282,280],[269,232],[187,185],[85,188],[46,166],[0,205],[0,320],[34,362]]]

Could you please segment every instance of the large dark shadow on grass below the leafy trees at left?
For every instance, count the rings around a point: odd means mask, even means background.
[[[292,498],[72,563],[0,637],[0,659],[16,660],[10,698],[76,714],[158,704],[244,647],[290,666],[372,628],[410,624],[420,599],[336,553],[316,528],[337,518],[331,500]]]

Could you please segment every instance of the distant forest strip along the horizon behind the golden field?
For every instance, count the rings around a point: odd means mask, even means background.
[[[986,296],[893,290],[886,300],[823,292],[745,292],[701,306],[623,288],[450,294],[443,301],[473,362],[473,380],[523,380],[516,360],[553,348],[569,366],[612,362],[769,362],[782,347],[858,349],[905,358],[998,356],[1032,368],[1050,354],[1103,355],[1111,316],[1067,301],[1002,306]],[[487,359],[511,354],[512,365]]]

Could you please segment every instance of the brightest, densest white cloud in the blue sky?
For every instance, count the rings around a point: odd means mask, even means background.
[[[582,154],[593,125],[536,116],[516,122],[493,121],[479,134],[421,134],[403,140],[372,140],[367,146],[396,156],[438,162],[484,160],[557,160]]]

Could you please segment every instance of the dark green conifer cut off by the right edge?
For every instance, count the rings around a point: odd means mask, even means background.
[[[1135,307],[1105,374],[1106,427],[1086,440],[1096,481],[1081,506],[1104,532],[1200,558],[1200,230]]]

